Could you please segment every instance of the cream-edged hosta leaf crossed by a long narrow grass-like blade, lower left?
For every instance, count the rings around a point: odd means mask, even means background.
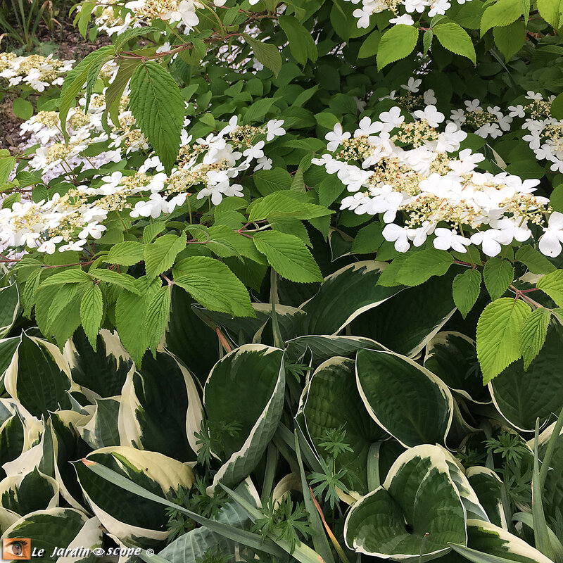
[[[165,540],[168,521],[165,507],[129,493],[90,471],[88,462],[98,462],[163,498],[174,498],[178,487],[190,488],[191,467],[157,452],[129,446],[102,448],[74,462],[78,480],[91,510],[101,524],[123,542],[146,547]]]

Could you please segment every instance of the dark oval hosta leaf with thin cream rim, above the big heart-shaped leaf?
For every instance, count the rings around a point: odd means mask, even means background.
[[[445,442],[453,398],[428,369],[393,352],[360,350],[356,377],[369,415],[400,443]]]

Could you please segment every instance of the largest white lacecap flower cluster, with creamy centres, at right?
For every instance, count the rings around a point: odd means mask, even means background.
[[[435,106],[412,116],[414,122],[405,122],[395,107],[374,122],[362,118],[354,134],[339,123],[327,134],[330,153],[313,163],[338,175],[353,192],[343,198],[341,209],[381,214],[383,236],[400,252],[431,236],[441,250],[465,253],[474,244],[495,256],[502,246],[530,239],[530,225],[538,224],[544,231],[540,251],[559,255],[563,215],[552,213],[545,225],[549,201],[533,194],[539,180],[477,172],[484,156],[469,148],[460,151],[467,133],[458,125],[445,124]]]

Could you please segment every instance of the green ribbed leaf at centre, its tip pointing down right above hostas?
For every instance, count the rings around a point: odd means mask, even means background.
[[[322,281],[322,274],[310,251],[297,236],[262,231],[253,236],[256,248],[281,277],[301,283]]]

